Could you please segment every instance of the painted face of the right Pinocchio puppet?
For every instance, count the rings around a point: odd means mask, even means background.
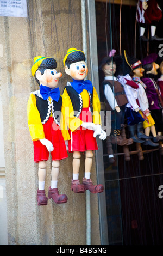
[[[72,63],[70,68],[65,71],[74,80],[83,80],[87,76],[88,69],[86,63],[82,60],[81,62]]]

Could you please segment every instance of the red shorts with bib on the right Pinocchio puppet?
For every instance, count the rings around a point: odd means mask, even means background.
[[[82,113],[79,115],[79,117],[83,121],[89,121],[92,122],[92,114],[89,110],[89,108],[83,108]],[[84,129],[82,126],[80,126],[77,130],[70,133],[70,141],[68,141],[68,151],[80,151],[85,152],[86,150],[97,150],[98,145],[96,138],[93,137],[94,131]]]

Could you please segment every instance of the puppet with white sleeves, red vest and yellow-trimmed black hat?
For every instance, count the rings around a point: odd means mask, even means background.
[[[135,81],[133,81],[132,77],[130,76],[130,74],[135,74],[133,72],[135,72],[134,70],[137,68],[135,64],[135,59],[134,66],[132,62],[133,59],[128,56],[125,50],[122,53],[122,58],[123,71],[121,72],[123,73],[123,76],[118,77],[124,86],[124,90],[126,92],[127,99],[129,102],[126,107],[126,118],[128,123],[128,130],[130,132],[130,137],[133,138],[134,142],[143,143],[145,145],[151,145],[153,147],[156,147],[158,144],[151,141],[152,137],[149,137],[149,134],[147,132],[143,133],[145,115],[142,115],[141,109],[143,109],[143,111],[147,111],[146,109],[148,107],[148,100],[145,90],[142,87],[140,87],[139,84],[137,84]]]

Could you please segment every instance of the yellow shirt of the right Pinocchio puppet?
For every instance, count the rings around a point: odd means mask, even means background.
[[[87,90],[83,90],[82,93],[80,93],[83,100],[83,108],[89,107],[90,102],[90,96]],[[74,110],[72,106],[71,99],[67,93],[67,90],[64,90],[64,93],[62,95],[62,113],[64,115],[64,119],[66,121],[66,124],[68,128],[73,132],[75,131],[80,125],[82,125],[83,121],[80,120],[77,117],[74,117]],[[92,107],[93,107],[93,113],[92,113],[92,119],[94,124],[101,124],[101,117],[100,117],[100,101],[97,94],[97,91],[95,87],[93,87],[93,99],[92,99]]]

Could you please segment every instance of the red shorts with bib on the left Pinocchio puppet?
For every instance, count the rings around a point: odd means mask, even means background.
[[[52,117],[43,124],[45,138],[52,142],[54,150],[51,152],[52,160],[61,160],[68,157],[66,145],[59,125],[57,125]],[[49,151],[45,145],[37,140],[34,144],[34,162],[47,161],[49,158]]]

